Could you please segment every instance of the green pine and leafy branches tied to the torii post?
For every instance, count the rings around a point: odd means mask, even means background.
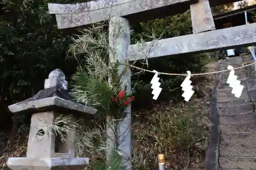
[[[76,59],[84,58],[86,63],[83,67],[78,67],[73,76],[72,94],[79,102],[97,108],[101,116],[112,115],[119,119],[124,116],[126,105],[123,99],[125,100],[127,94],[114,102],[112,98],[116,98],[118,93],[125,90],[126,84],[121,77],[127,66],[120,69],[119,75],[118,61],[109,62],[109,35],[104,27],[104,23],[96,23],[91,28],[81,30],[82,35],[73,38],[74,43],[70,45],[69,52]],[[113,57],[115,58],[115,54]]]

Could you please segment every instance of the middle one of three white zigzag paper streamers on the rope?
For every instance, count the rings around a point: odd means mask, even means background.
[[[189,79],[191,78],[191,72],[187,71],[187,77],[185,78],[185,80],[181,83],[181,87],[184,91],[184,93],[182,94],[183,98],[185,101],[189,101],[189,99],[191,98],[191,96],[194,94],[195,91],[193,91],[193,86],[191,86],[190,84],[192,83]]]

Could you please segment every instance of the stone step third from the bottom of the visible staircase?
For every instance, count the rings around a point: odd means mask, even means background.
[[[221,133],[220,143],[238,144],[238,143],[255,143],[256,133]]]

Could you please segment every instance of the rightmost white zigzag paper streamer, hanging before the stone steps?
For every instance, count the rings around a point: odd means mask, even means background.
[[[239,98],[244,86],[240,84],[241,81],[237,80],[238,77],[234,76],[234,68],[231,65],[228,65],[227,69],[230,70],[227,83],[229,84],[229,87],[233,88],[231,93],[234,94],[235,97]]]

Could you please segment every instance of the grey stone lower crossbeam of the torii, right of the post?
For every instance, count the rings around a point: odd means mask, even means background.
[[[214,52],[221,48],[251,45],[256,42],[256,23],[227,29],[190,34],[129,46],[131,61],[185,53]],[[147,55],[146,55],[147,54]],[[242,64],[242,63],[241,63]]]

